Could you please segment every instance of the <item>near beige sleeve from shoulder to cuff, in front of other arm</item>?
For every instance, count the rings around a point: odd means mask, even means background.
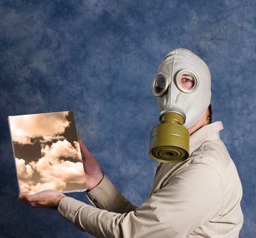
[[[222,207],[219,174],[193,165],[172,177],[145,203],[129,213],[115,213],[70,197],[61,199],[59,214],[96,237],[186,237],[212,219]]]

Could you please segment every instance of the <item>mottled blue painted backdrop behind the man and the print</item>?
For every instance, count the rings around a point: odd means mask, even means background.
[[[157,163],[151,82],[161,58],[189,48],[212,73],[213,119],[242,180],[244,226],[256,235],[255,1],[0,2],[0,237],[91,237],[56,211],[18,201],[7,116],[74,110],[103,171],[141,205]],[[86,200],[84,194],[70,196]]]

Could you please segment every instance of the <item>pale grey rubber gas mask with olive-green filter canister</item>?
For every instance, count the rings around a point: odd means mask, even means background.
[[[167,54],[153,80],[160,124],[150,135],[149,156],[163,163],[189,157],[187,128],[202,117],[210,105],[210,71],[201,58],[186,49]]]

